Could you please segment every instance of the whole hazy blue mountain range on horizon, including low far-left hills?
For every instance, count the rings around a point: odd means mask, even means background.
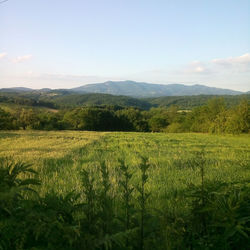
[[[4,88],[5,93],[32,93],[36,95],[68,95],[75,94],[110,94],[116,96],[130,96],[136,98],[155,98],[163,96],[196,96],[196,95],[240,95],[240,91],[207,87],[204,85],[187,86],[184,84],[152,84],[134,81],[107,81],[104,83],[87,84],[72,89],[38,89],[29,88]],[[249,92],[248,92],[249,93]]]

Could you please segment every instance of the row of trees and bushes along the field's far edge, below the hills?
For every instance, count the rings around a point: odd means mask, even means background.
[[[228,107],[223,98],[180,110],[177,105],[142,110],[134,107],[94,106],[60,109],[0,108],[0,129],[89,130],[136,132],[248,133],[250,104],[246,99]]]

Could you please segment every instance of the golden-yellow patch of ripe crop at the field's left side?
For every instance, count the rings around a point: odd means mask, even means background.
[[[1,132],[0,157],[14,157],[32,163],[44,158],[60,158],[99,139],[103,134],[75,131]]]

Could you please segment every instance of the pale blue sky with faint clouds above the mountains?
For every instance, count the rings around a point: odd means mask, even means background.
[[[250,90],[249,0],[2,1],[0,88],[134,80]]]

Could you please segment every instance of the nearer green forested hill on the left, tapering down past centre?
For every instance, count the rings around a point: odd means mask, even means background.
[[[67,90],[1,92],[0,103],[15,103],[48,108],[73,108],[81,106],[121,106],[149,109],[152,104],[128,96],[108,94],[76,94]]]

